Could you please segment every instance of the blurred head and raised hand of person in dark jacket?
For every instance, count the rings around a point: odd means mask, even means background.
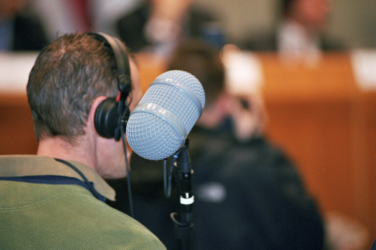
[[[263,107],[258,97],[233,96],[226,88],[226,68],[221,51],[201,40],[186,40],[178,45],[171,57],[168,69],[184,70],[194,75],[205,90],[205,108],[197,125],[215,128],[231,117],[234,134],[240,141],[261,135]]]

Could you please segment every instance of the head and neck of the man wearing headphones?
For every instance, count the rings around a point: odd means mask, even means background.
[[[136,65],[129,62],[132,110],[141,98],[141,88]],[[77,33],[49,43],[36,59],[27,83],[37,154],[77,160],[104,178],[125,176],[121,140],[101,137],[94,127],[96,107],[117,94],[115,56],[104,42]],[[58,151],[59,147],[64,150]]]

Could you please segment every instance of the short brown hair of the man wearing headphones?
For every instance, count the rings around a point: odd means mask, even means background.
[[[30,72],[27,98],[37,140],[83,135],[96,97],[116,96],[114,54],[93,35],[67,34],[44,47]]]

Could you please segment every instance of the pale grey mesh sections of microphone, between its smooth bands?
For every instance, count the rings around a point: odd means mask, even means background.
[[[205,104],[201,83],[191,74],[180,70],[167,71],[160,75],[142,97],[141,103],[164,107],[182,122],[187,134],[199,118],[194,102],[184,91],[163,84],[163,79],[172,79],[188,87]],[[181,146],[181,138],[172,125],[161,117],[147,112],[131,114],[126,127],[127,140],[133,151],[145,159],[161,160],[175,153]]]

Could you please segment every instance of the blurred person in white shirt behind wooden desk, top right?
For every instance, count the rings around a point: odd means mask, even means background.
[[[250,50],[278,51],[285,58],[315,61],[322,50],[343,46],[323,34],[332,11],[332,0],[281,0],[282,18],[275,32],[250,40]]]

